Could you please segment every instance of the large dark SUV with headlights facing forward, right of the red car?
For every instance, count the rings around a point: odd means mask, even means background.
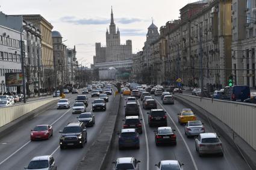
[[[87,130],[86,125],[83,122],[73,122],[67,124],[63,130],[59,131],[60,136],[60,149],[64,149],[68,146],[84,147],[84,143],[87,142]]]

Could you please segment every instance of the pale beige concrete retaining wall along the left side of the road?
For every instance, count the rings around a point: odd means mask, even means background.
[[[23,105],[14,105],[10,107],[0,108],[0,127],[5,126],[11,121],[22,117],[25,114],[37,109],[49,102],[58,100],[60,98],[37,100],[35,102],[25,103]]]

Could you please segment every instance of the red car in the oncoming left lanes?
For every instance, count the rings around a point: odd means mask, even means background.
[[[49,139],[51,136],[53,136],[53,134],[54,130],[52,129],[51,125],[37,125],[33,130],[31,130],[30,140],[34,141],[37,139]]]

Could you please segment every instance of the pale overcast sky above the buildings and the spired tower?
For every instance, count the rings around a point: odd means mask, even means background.
[[[151,18],[158,27],[178,19],[180,8],[196,0],[2,0],[5,14],[41,14],[59,31],[68,47],[76,46],[78,61],[93,63],[95,43],[105,46],[110,24],[111,5],[119,27],[121,43],[133,41],[133,53],[142,50]],[[1,24],[1,23],[0,23]]]

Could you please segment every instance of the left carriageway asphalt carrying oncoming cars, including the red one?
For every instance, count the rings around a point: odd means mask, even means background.
[[[73,106],[76,96],[77,94],[66,96],[70,100],[70,106]],[[90,94],[87,97],[89,97],[89,106],[87,107],[87,112],[89,112],[92,109],[93,99],[96,98],[92,99]],[[49,154],[53,155],[58,169],[75,169],[101,130],[101,124],[109,114],[108,108],[110,108],[112,100],[113,96],[110,97],[110,102],[107,103],[107,111],[93,112],[95,126],[87,128],[87,143],[84,148],[67,148],[66,150],[60,150],[59,148],[60,133],[58,131],[63,130],[67,123],[76,121],[76,117],[78,117],[78,114],[72,114],[71,108],[57,110],[57,106],[52,106],[33,119],[28,120],[27,123],[14,129],[8,136],[0,139],[0,169],[23,169],[33,157]],[[31,142],[30,130],[37,124],[52,124],[53,137],[45,141]]]

